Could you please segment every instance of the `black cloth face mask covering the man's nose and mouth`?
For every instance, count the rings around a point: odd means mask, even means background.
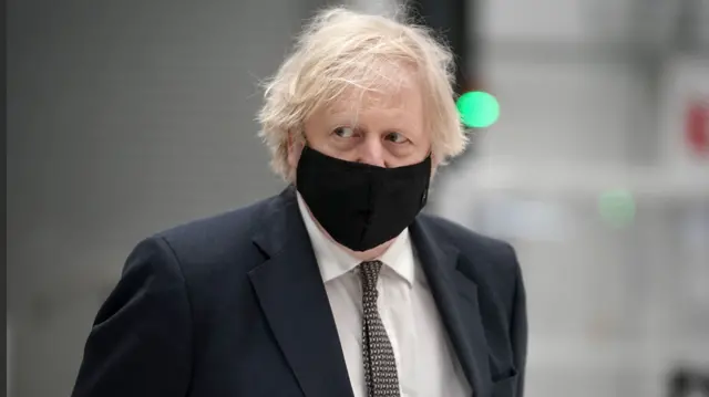
[[[306,146],[296,178],[300,196],[330,237],[353,251],[367,251],[401,233],[425,206],[431,156],[382,168]]]

